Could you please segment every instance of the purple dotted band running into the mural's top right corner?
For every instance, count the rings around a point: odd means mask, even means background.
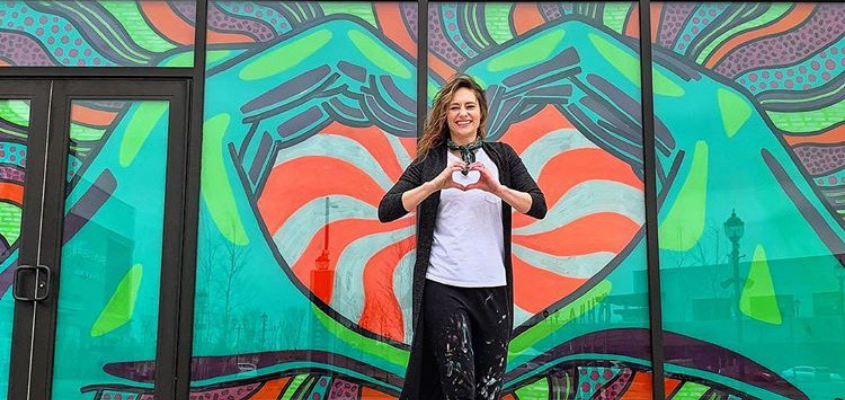
[[[820,4],[797,29],[742,46],[722,59],[714,70],[733,79],[750,69],[793,63],[828,46],[843,32],[845,7]]]

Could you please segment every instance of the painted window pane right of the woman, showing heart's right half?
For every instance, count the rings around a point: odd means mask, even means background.
[[[630,2],[430,4],[429,102],[479,79],[488,140],[549,205],[514,215],[507,399],[651,398],[637,24]]]

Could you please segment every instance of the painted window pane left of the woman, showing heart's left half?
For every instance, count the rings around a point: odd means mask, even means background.
[[[197,396],[398,393],[414,218],[377,206],[415,154],[416,24],[415,3],[209,4],[238,40],[208,45]]]

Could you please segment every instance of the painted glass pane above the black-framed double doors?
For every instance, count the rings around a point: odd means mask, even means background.
[[[193,0],[0,3],[0,67],[190,67]]]

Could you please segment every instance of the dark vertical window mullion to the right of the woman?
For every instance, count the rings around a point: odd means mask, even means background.
[[[657,247],[657,179],[654,150],[654,87],[651,57],[651,1],[640,0],[640,76],[645,178],[646,259],[648,264],[649,332],[651,344],[652,396],[666,398],[663,386],[663,315],[660,299],[660,255]]]

